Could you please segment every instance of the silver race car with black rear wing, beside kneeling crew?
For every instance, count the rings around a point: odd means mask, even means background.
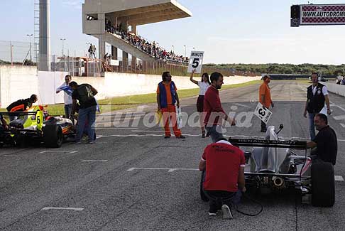
[[[280,130],[283,124],[280,124]],[[229,139],[234,146],[250,147],[244,152],[246,167],[244,175],[249,192],[272,193],[295,188],[302,195],[302,203],[314,206],[334,205],[334,168],[332,163],[307,155],[307,142],[278,139],[275,127],[270,126],[265,139]],[[304,150],[305,154],[296,154]],[[207,201],[203,191],[205,173],[202,172],[200,195]]]

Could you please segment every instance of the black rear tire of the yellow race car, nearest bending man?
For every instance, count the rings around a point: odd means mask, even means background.
[[[62,129],[56,124],[47,124],[43,129],[43,142],[47,148],[60,148],[62,145]]]

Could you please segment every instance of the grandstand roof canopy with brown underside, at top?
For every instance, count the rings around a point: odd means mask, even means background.
[[[110,14],[126,19],[131,25],[158,23],[192,16],[192,13],[176,0],[85,0],[87,13]]]

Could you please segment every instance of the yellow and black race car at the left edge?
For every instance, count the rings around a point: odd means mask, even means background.
[[[75,136],[72,120],[62,117],[48,117],[43,106],[35,106],[26,112],[0,112],[0,117],[13,115],[9,124],[0,124],[0,146],[27,146],[44,144],[47,148],[60,148],[62,141]]]

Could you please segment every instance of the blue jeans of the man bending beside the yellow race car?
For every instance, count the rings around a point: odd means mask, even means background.
[[[77,136],[75,141],[80,141],[82,139],[82,134],[84,130],[87,131],[89,136],[89,141],[94,141],[94,122],[96,121],[96,109],[97,106],[81,108],[78,114],[78,124],[77,124]],[[85,124],[87,123],[86,127]]]

